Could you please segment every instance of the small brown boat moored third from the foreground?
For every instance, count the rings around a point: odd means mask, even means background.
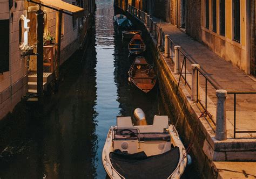
[[[146,45],[139,34],[133,35],[128,48],[130,53],[133,55],[138,55],[146,51]]]

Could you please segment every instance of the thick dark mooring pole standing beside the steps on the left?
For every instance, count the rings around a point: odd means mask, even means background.
[[[38,102],[43,104],[43,65],[44,65],[44,12],[39,10],[37,16],[37,96]]]

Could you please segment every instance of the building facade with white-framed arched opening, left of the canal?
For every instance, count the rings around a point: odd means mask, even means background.
[[[39,2],[39,0],[36,0]],[[63,14],[60,64],[83,45],[89,29],[89,21],[95,12],[95,0],[65,0],[64,2],[84,9],[82,17]],[[0,0],[0,120],[28,93],[28,75],[35,73],[37,56],[24,55],[30,46],[36,53],[37,4],[26,0]],[[45,8],[44,38],[51,37],[53,43],[44,46],[44,53],[52,49],[55,59],[56,11]],[[49,51],[50,52],[50,51]],[[45,63],[46,66],[48,63]],[[45,68],[45,67],[44,67]],[[53,73],[53,71],[51,71]]]

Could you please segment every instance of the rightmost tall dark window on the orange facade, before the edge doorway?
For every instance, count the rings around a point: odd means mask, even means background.
[[[233,0],[234,41],[240,42],[240,0]]]

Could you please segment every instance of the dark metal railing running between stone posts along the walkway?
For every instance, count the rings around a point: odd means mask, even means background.
[[[154,37],[156,40],[157,40],[157,46],[160,47],[159,49],[163,49],[165,48],[165,33],[163,32],[162,28],[160,27],[160,25],[158,26],[156,22],[153,21],[152,18],[150,18],[149,15],[147,15],[146,12],[144,11],[141,11],[131,5],[128,4],[128,8],[127,8],[128,12],[131,13],[131,15],[133,15],[134,17],[136,17],[137,19],[140,20],[140,22],[142,22],[146,28],[149,29],[149,32],[152,33],[152,37]],[[136,12],[140,12],[141,16],[143,18],[140,18],[137,16],[137,14],[135,13]],[[170,37],[167,37],[167,58],[170,58],[172,63],[174,63],[174,46],[176,46],[176,44],[171,40]],[[181,58],[182,59],[182,64],[181,64],[181,68],[180,68],[180,63],[181,63]],[[194,64],[195,62],[192,61],[190,58],[188,58],[188,56],[181,50],[181,48],[178,48],[178,74],[179,74],[179,81],[178,81],[178,85],[177,85],[177,90],[179,88],[179,84],[180,84],[180,81],[181,81],[181,78],[183,78],[184,80],[184,84],[191,90],[191,84],[189,84],[189,82],[187,81],[187,71],[190,71],[191,70],[191,66],[190,68],[187,68],[187,63],[190,63],[191,65]],[[196,98],[196,102],[200,104],[200,106],[203,108],[204,110],[204,114],[205,116],[208,116],[212,123],[214,125],[215,124],[215,121],[212,119],[212,114],[210,114],[210,112],[207,111],[207,96],[209,95],[209,91],[208,91],[208,84],[210,84],[212,86],[213,89],[215,90],[218,90],[219,88],[217,87],[216,84],[214,84],[214,82],[212,80],[210,80],[210,78],[208,78],[207,75],[205,75],[204,71],[198,67],[196,67],[196,74],[197,74],[197,98]],[[198,84],[199,82],[199,78],[203,78],[204,80],[204,84],[203,84],[203,88],[204,88],[204,92],[205,92],[205,95],[204,95],[204,100],[205,100],[205,103],[203,104],[199,98],[199,88],[200,88],[200,84]],[[211,91],[212,92],[212,91]],[[245,94],[256,94],[256,92],[227,92],[227,94],[233,94],[234,95],[234,138],[235,138],[235,134],[236,133],[255,133],[256,131],[237,131],[236,130],[236,120],[237,120],[237,117],[236,117],[236,105],[237,105],[237,101],[236,101],[236,95],[239,94],[239,95],[245,95]]]

